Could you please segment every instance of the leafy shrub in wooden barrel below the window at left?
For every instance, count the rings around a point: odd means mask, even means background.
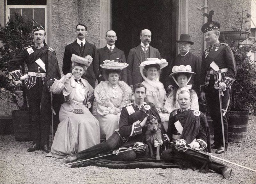
[[[31,140],[31,124],[24,81],[14,82],[8,74],[7,66],[13,57],[25,47],[33,44],[32,21],[14,13],[6,25],[0,25],[0,99],[15,103],[18,110],[12,111],[15,138],[21,141]],[[20,66],[26,73],[25,64]]]

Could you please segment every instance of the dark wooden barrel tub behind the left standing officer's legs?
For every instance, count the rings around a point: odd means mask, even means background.
[[[14,127],[15,139],[17,141],[31,141],[31,121],[29,111],[12,111],[12,122]]]

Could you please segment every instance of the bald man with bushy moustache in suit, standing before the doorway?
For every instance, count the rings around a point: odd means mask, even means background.
[[[127,59],[127,63],[129,64],[127,67],[127,80],[128,85],[131,87],[133,87],[134,84],[143,81],[139,69],[141,62],[147,60],[147,58],[161,58],[158,49],[149,45],[151,42],[151,32],[148,29],[144,29],[140,32],[140,40],[140,45],[130,50]]]

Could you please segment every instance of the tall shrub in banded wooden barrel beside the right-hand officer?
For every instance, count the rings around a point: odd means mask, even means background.
[[[250,21],[251,15],[244,11],[237,13],[238,25],[235,29],[244,34],[243,25]],[[245,29],[249,30],[249,29]],[[256,67],[248,56],[248,53],[255,52],[253,44],[241,45],[236,40],[224,38],[234,53],[237,67],[236,81],[231,87],[231,98],[228,112],[228,140],[230,142],[243,142],[246,140],[249,112],[256,115]]]

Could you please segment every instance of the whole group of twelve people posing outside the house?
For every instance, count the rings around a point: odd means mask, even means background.
[[[126,61],[124,52],[115,46],[117,37],[113,30],[106,32],[107,45],[97,50],[85,39],[86,25],[78,24],[76,41],[65,48],[64,76],[61,77],[56,54],[44,41],[44,28],[34,26],[35,45],[25,48],[8,66],[16,81],[25,81],[28,91],[34,138],[28,152],[41,148],[48,152],[47,156],[65,158],[68,163],[120,147],[133,147],[144,141],[145,127],[153,117],[162,124],[162,140],[154,142],[155,147],[165,148],[161,158],[166,162],[190,160],[202,167],[208,161],[206,157],[189,151],[179,152],[170,144],[184,141],[192,149],[211,152],[212,147],[217,149],[216,153],[224,152],[223,142],[225,148],[228,147],[225,113],[230,87],[236,77],[236,63],[230,47],[219,42],[219,28],[220,24],[212,18],[202,26],[205,40],[210,44],[202,62],[189,51],[194,43],[190,35],[181,34],[177,40],[180,54],[168,63],[149,45],[151,32],[147,29],[140,32],[141,43],[130,50]],[[28,66],[25,75],[19,68],[24,62]],[[168,64],[163,84],[159,81],[161,69]],[[223,91],[223,114],[220,114],[219,90]],[[207,101],[210,109],[213,145],[206,117],[199,111],[198,96],[199,100]],[[94,100],[96,117],[92,115]],[[59,114],[60,123],[50,148],[51,111]],[[105,141],[100,143],[100,138]],[[135,158],[136,152],[132,150],[111,157],[122,161]],[[220,162],[212,161],[208,165],[224,178],[231,173],[231,169]]]

